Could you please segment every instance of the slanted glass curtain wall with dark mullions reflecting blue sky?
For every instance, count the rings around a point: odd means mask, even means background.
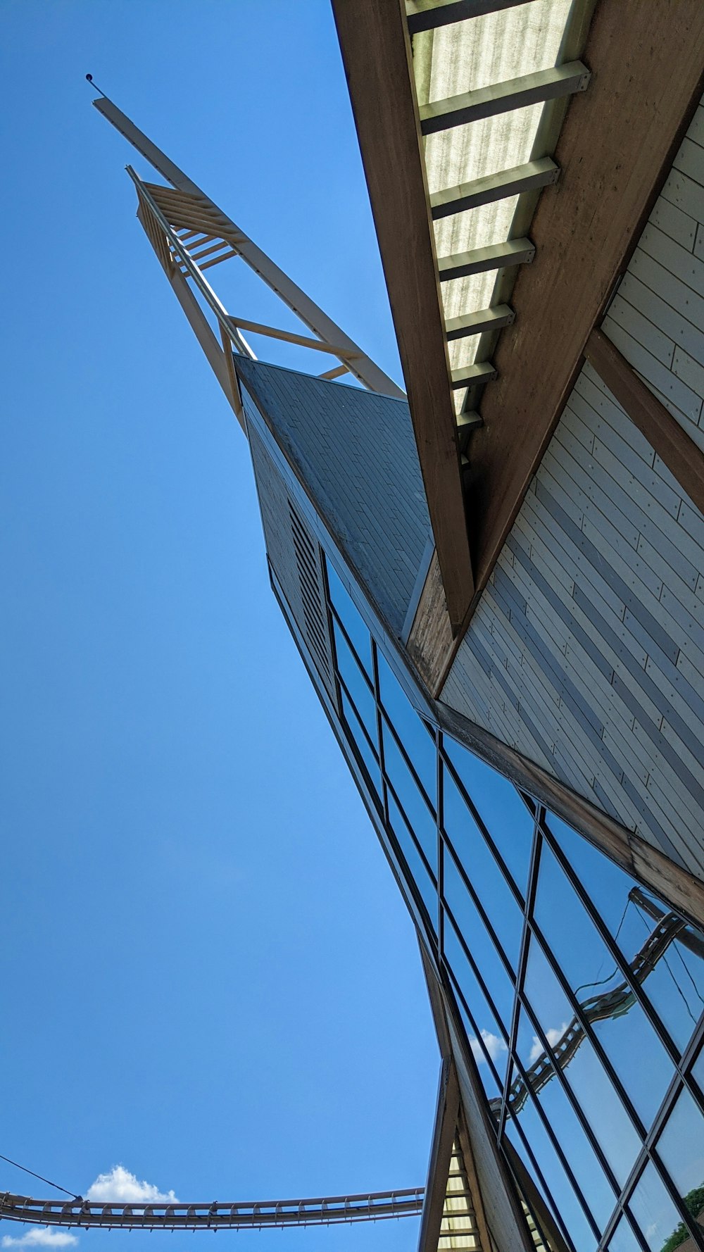
[[[510,1169],[575,1252],[704,1248],[704,934],[426,722],[327,568],[343,730]]]

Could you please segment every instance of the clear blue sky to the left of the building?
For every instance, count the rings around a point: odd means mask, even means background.
[[[0,1152],[184,1199],[420,1184],[438,1057],[412,926],[271,595],[246,442],[135,222],[123,167],[149,172],[84,78],[398,378],[328,3],[5,0],[0,28]]]

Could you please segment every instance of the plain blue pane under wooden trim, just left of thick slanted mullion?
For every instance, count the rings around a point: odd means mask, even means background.
[[[516,788],[502,774],[480,761],[447,735],[443,747],[477,810],[516,886],[525,895],[534,821]]]

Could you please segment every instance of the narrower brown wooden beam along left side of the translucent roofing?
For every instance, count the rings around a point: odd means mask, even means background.
[[[406,18],[398,0],[333,0],[332,6],[456,629],[471,602],[474,580]]]

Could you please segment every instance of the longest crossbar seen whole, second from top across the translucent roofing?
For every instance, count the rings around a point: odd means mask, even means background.
[[[462,95],[450,96],[448,100],[433,100],[431,104],[423,104],[420,110],[421,131],[423,135],[432,135],[437,130],[450,130],[468,121],[479,121],[480,118],[494,118],[499,113],[511,113],[530,104],[586,91],[590,78],[590,71],[581,61],[567,61],[566,65],[557,65],[555,69],[525,74],[507,83],[494,83],[491,86],[477,88],[476,91],[465,91]]]

